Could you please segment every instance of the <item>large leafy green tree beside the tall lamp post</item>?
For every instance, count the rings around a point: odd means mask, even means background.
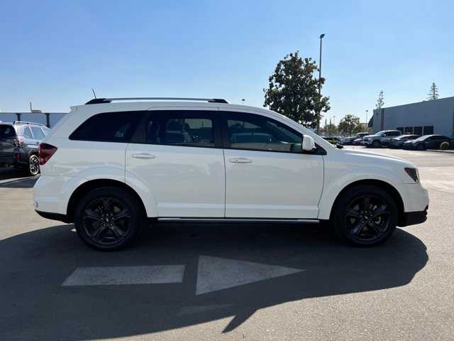
[[[328,112],[329,97],[319,96],[318,69],[311,58],[299,57],[298,51],[286,55],[277,63],[265,92],[265,104],[300,124],[315,128],[319,112]],[[321,86],[325,79],[321,78]]]

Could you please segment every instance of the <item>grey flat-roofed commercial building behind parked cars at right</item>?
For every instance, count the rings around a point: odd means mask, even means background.
[[[375,132],[397,129],[404,134],[454,136],[454,97],[375,109],[369,126]]]

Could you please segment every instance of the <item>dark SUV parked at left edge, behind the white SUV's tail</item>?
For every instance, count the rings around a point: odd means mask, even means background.
[[[27,168],[31,175],[40,173],[38,144],[49,133],[43,124],[14,121],[0,123],[0,166]]]

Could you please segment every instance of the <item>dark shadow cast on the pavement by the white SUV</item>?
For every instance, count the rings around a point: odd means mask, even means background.
[[[358,248],[318,226],[158,224],[129,249],[100,252],[72,228],[0,241],[2,340],[124,337],[221,318],[231,318],[219,330],[229,332],[272,305],[405,286],[428,261],[423,242],[402,229],[386,244]],[[199,256],[304,271],[196,295]],[[182,283],[62,286],[78,267],[175,264],[185,265]]]

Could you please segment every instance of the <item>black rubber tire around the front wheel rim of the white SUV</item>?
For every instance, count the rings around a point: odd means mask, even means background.
[[[345,210],[347,209],[350,202],[355,199],[355,197],[359,197],[361,195],[375,195],[377,197],[380,197],[380,199],[384,200],[384,202],[387,203],[391,212],[389,215],[389,227],[387,231],[382,234],[382,236],[372,241],[361,241],[352,238],[348,233],[345,222]],[[370,247],[372,245],[380,244],[391,237],[394,230],[396,229],[398,217],[397,205],[391,195],[382,190],[382,188],[378,188],[372,185],[355,186],[353,188],[350,188],[350,190],[348,190],[347,192],[343,193],[343,195],[338,200],[336,200],[336,203],[333,207],[336,207],[336,212],[334,212],[333,215],[334,231],[336,232],[337,237],[350,244],[361,247]]]

